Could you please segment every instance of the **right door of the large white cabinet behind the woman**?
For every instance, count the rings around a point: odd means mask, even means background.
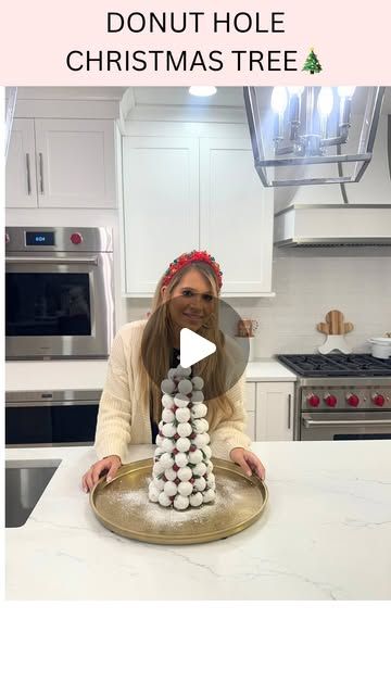
[[[202,138],[200,242],[223,270],[223,296],[272,291],[273,191],[248,139]]]

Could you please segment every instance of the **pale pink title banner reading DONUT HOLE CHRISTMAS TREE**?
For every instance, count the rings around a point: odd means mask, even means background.
[[[389,85],[390,5],[13,0],[2,11],[0,81]]]

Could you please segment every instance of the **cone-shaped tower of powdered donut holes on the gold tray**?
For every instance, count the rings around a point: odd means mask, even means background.
[[[151,502],[175,509],[200,507],[215,498],[204,382],[190,375],[190,367],[178,366],[162,381],[163,410],[149,485]]]

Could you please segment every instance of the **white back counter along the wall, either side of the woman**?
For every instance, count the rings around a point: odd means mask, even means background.
[[[5,363],[5,391],[101,390],[106,359],[14,361]],[[248,381],[295,381],[297,375],[277,359],[249,362]]]

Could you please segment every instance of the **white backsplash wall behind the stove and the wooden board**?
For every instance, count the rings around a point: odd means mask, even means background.
[[[156,278],[157,279],[157,278]],[[316,324],[340,309],[354,330],[353,352],[368,352],[366,338],[391,331],[391,248],[274,250],[273,299],[229,300],[243,318],[260,323],[255,354],[316,351]],[[126,300],[126,320],[143,318],[149,300]]]

